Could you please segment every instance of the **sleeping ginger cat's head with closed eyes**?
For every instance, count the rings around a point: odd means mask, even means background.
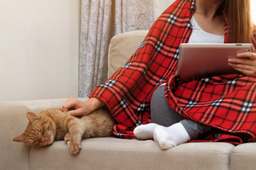
[[[27,113],[29,120],[28,126],[22,135],[15,137],[15,142],[23,142],[31,147],[43,147],[53,143],[56,125],[46,115],[36,115]]]

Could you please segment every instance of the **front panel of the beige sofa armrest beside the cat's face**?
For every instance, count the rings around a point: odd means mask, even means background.
[[[24,106],[0,104],[0,169],[29,169],[30,147],[12,141],[26,128],[26,112]]]

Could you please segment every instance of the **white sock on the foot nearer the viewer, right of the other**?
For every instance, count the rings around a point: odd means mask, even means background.
[[[169,149],[189,140],[188,132],[181,123],[169,127],[158,126],[154,130],[154,141],[159,142],[161,149]]]

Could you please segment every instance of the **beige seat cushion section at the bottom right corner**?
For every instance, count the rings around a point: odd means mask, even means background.
[[[256,143],[245,143],[235,147],[230,155],[230,169],[256,169]]]

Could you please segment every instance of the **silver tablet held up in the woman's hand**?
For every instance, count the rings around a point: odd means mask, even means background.
[[[252,44],[182,43],[177,74],[183,81],[238,74],[238,71],[228,65],[228,58],[237,57],[240,52],[252,51],[252,47]]]

